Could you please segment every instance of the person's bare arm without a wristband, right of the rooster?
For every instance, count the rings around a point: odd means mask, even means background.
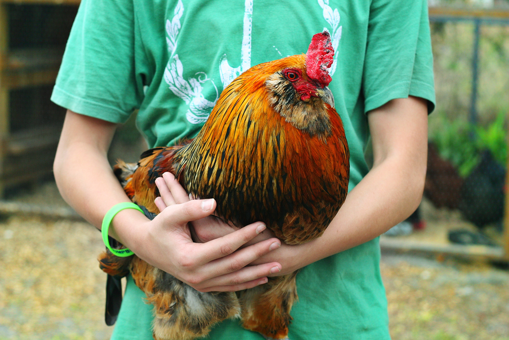
[[[393,99],[367,114],[374,165],[347,195],[323,235],[303,245],[282,245],[255,261],[277,260],[293,272],[327,256],[370,241],[410,216],[426,178],[428,109],[421,98]]]

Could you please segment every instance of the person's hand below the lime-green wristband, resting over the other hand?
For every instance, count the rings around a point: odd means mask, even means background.
[[[159,204],[159,203],[158,203]],[[165,206],[154,220],[141,226],[143,242],[132,250],[147,263],[169,273],[201,292],[238,291],[267,282],[281,270],[275,261],[248,266],[280,246],[275,238],[239,249],[265,229],[253,223],[206,243],[194,243],[188,223],[210,216],[214,199],[190,200]]]

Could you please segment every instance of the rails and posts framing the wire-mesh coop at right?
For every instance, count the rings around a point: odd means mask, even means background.
[[[477,79],[478,79],[478,49],[480,27],[483,24],[509,25],[509,10],[497,9],[467,9],[467,8],[443,8],[430,7],[429,15],[431,22],[455,22],[469,21],[474,24],[474,43],[472,53],[472,93],[470,97],[469,120],[477,119]],[[509,120],[509,112],[507,113]],[[509,139],[507,140],[509,145]],[[506,164],[505,187],[509,188],[509,159]],[[415,251],[435,254],[450,254],[466,257],[480,257],[494,261],[509,261],[509,194],[505,195],[505,213],[503,219],[502,246],[484,245],[458,245],[437,244],[431,242],[415,242],[398,240],[388,237],[380,239],[382,249],[395,251]]]

